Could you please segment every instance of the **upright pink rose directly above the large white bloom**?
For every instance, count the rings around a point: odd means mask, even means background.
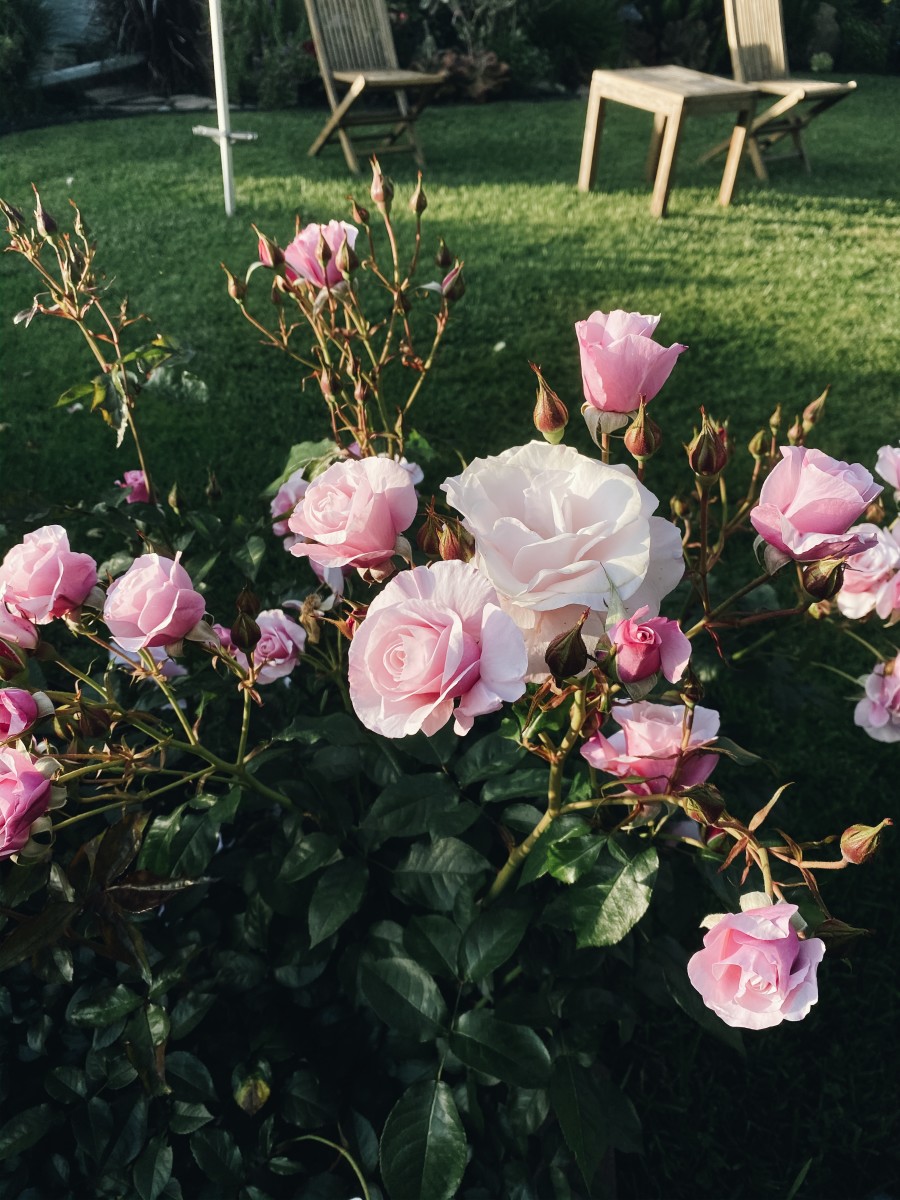
[[[688,349],[678,342],[668,347],[654,342],[658,324],[659,317],[622,308],[608,314],[592,312],[587,320],[576,322],[586,401],[582,413],[592,437],[596,438],[598,426],[608,433],[628,425],[641,400],[653,400],[678,355]]]

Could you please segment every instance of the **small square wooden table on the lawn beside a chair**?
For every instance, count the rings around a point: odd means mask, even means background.
[[[595,71],[590,77],[588,115],[581,150],[578,191],[589,192],[596,175],[596,157],[604,130],[607,100],[653,113],[653,133],[647,155],[647,178],[653,179],[650,212],[666,215],[678,143],[685,118],[736,112],[737,120],[725,161],[719,203],[731,204],[740,156],[754,119],[756,91],[746,84],[703,74],[688,67],[636,67],[628,71]]]

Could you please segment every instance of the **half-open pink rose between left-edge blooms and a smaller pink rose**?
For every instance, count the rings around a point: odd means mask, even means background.
[[[203,618],[206,601],[179,558],[142,554],[109,584],[103,620],[126,653],[178,642]]]

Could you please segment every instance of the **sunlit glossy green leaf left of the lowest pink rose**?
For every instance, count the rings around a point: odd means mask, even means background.
[[[578,947],[614,946],[647,912],[659,857],[650,846],[626,863],[608,856],[565,899]]]

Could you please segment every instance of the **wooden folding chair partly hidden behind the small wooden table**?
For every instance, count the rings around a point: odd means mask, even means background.
[[[775,157],[799,157],[809,170],[803,131],[814,116],[850,95],[856,83],[828,83],[791,76],[781,0],[725,0],[725,26],[736,80],[749,83],[763,95],[779,97],[750,127],[748,154],[754,170],[760,179],[768,179],[763,155],[787,137],[793,142],[793,150]],[[719,143],[703,155],[701,162],[722,154],[727,148],[727,142]]]

